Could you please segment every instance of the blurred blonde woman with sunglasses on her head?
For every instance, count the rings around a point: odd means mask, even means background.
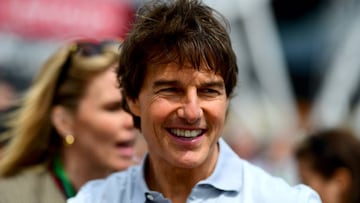
[[[119,53],[116,41],[78,40],[44,63],[8,122],[0,202],[62,203],[134,164],[137,131],[114,72]]]

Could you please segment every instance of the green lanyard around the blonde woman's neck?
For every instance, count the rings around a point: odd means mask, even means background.
[[[54,160],[54,173],[60,179],[61,184],[65,190],[65,195],[67,198],[74,197],[76,192],[74,187],[71,185],[69,177],[66,175],[64,168],[62,166],[60,157],[55,157]]]

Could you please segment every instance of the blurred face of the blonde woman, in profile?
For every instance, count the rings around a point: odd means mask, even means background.
[[[73,151],[88,164],[124,170],[133,164],[137,131],[121,106],[122,96],[111,68],[94,77],[72,119]]]

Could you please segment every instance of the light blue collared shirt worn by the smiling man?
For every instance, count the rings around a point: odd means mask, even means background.
[[[305,185],[291,187],[245,160],[219,140],[220,154],[214,172],[197,183],[187,203],[320,203]],[[151,191],[144,179],[145,160],[139,166],[91,181],[68,203],[170,203]],[[180,182],[181,180],[179,180]]]

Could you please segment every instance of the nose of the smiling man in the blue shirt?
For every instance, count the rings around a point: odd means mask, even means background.
[[[188,91],[181,100],[181,107],[178,109],[178,116],[186,122],[193,124],[200,120],[202,109],[196,90]]]

